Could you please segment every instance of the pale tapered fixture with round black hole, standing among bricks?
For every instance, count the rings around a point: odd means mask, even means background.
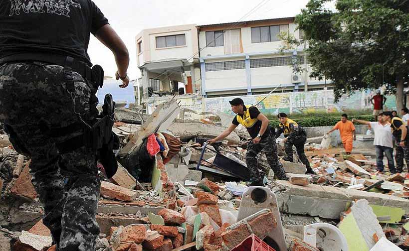
[[[241,221],[262,209],[268,209],[274,216],[276,226],[266,234],[277,246],[272,248],[285,250],[286,244],[276,195],[267,187],[249,187],[241,198],[237,221]],[[268,241],[266,242],[269,245],[271,244]]]

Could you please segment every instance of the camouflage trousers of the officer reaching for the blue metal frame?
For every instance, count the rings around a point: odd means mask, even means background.
[[[251,181],[260,182],[264,177],[264,173],[258,168],[256,159],[257,154],[261,150],[264,150],[268,165],[273,169],[274,174],[277,175],[280,180],[287,180],[288,177],[285,174],[284,167],[280,161],[278,161],[275,137],[270,133],[270,135],[261,139],[259,143],[255,144],[250,142],[247,146],[246,163],[250,170]]]

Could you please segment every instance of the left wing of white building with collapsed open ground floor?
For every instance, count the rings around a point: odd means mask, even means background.
[[[136,46],[145,99],[148,93],[177,93],[180,83],[188,93],[200,88],[196,24],[144,29]]]

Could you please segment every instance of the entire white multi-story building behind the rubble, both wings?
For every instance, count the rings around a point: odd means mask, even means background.
[[[304,46],[280,52],[283,32],[302,38],[294,17],[142,30],[136,45],[144,98],[148,89],[165,95],[181,85],[205,98],[327,89],[308,71],[293,72],[295,58],[308,69]]]

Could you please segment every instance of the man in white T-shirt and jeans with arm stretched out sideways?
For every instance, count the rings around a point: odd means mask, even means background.
[[[377,155],[377,169],[380,172],[384,171],[384,153],[388,159],[389,171],[391,173],[396,173],[395,163],[394,163],[394,145],[393,145],[393,135],[391,130],[391,124],[389,122],[384,122],[382,119],[382,113],[378,115],[378,122],[369,122],[363,120],[352,120],[352,122],[357,122],[359,124],[370,125],[375,132],[374,145]]]

